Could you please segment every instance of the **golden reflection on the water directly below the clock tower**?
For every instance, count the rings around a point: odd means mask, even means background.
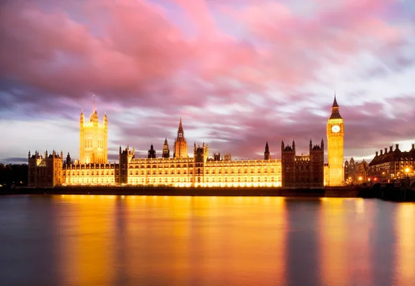
[[[322,285],[371,285],[370,204],[361,198],[323,198],[320,207]],[[351,218],[353,223],[351,224]]]

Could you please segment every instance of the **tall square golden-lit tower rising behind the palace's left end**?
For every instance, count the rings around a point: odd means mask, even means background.
[[[104,115],[103,123],[98,120],[95,111],[84,121],[84,112],[80,117],[80,164],[106,164],[108,160],[108,119]]]

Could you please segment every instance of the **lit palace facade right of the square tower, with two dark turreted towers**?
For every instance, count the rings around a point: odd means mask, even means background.
[[[172,187],[281,187],[280,160],[214,161],[209,146],[194,144],[193,158],[136,159],[135,152],[120,152],[124,184]],[[121,175],[122,176],[122,175]]]

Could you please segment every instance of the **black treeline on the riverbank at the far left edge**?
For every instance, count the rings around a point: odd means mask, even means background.
[[[0,164],[0,184],[3,188],[26,187],[28,164]]]

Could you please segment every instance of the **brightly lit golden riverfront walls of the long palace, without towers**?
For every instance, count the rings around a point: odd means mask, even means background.
[[[130,186],[171,187],[281,187],[281,160],[206,162],[196,168],[193,158],[130,159]],[[199,171],[196,171],[200,169]],[[114,186],[115,164],[70,165],[63,172],[64,186]],[[197,173],[197,175],[196,175]],[[200,180],[200,182],[199,182]],[[196,182],[197,181],[197,182]]]

